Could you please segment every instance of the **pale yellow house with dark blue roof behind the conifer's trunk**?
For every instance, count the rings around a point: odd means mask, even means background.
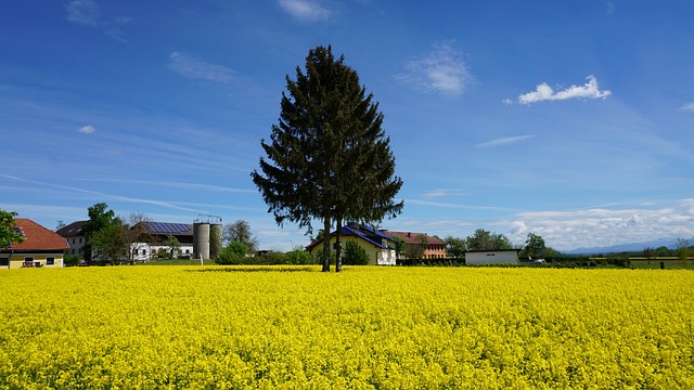
[[[331,248],[334,250],[337,232],[332,232]],[[395,265],[395,238],[384,232],[370,226],[359,224],[348,224],[343,226],[342,244],[343,248],[347,240],[355,240],[369,255],[370,265]],[[323,249],[323,240],[318,239],[306,247],[311,256],[317,256]]]

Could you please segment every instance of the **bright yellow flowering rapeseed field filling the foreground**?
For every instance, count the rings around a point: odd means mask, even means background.
[[[693,389],[694,272],[0,272],[0,389]]]

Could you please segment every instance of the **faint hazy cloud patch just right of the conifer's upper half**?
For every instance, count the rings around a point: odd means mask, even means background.
[[[408,62],[404,72],[397,75],[396,79],[425,92],[460,95],[467,90],[473,76],[463,53],[455,50],[451,42],[444,42]]]

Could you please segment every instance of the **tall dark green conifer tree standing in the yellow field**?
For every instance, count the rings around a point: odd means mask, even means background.
[[[335,60],[332,48],[317,47],[306,57],[306,73],[286,76],[281,114],[260,172],[252,178],[278,224],[296,222],[312,232],[337,226],[337,263],[343,221],[376,223],[402,210],[395,195],[402,180],[395,176],[390,140],[381,128],[383,114],[367,94],[359,76]],[[323,238],[323,271],[330,271],[330,234]]]

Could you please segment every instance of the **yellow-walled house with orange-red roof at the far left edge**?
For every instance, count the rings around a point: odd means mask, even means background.
[[[0,249],[0,269],[63,266],[63,252],[68,248],[65,238],[29,219],[16,218],[14,221],[14,229],[24,240]]]

